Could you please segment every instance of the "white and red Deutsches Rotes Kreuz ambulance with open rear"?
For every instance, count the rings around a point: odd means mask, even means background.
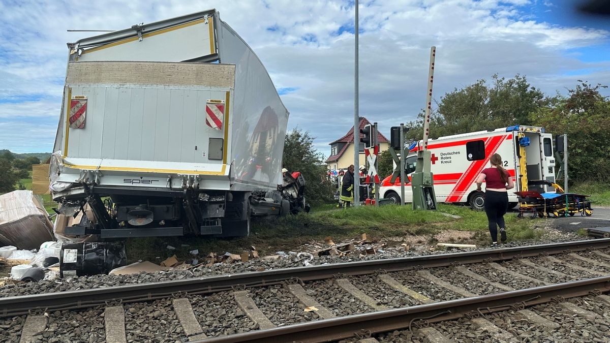
[[[544,132],[544,128],[515,125],[429,140],[437,203],[467,203],[473,209],[483,209],[484,193],[476,191],[475,180],[484,168],[490,167],[489,158],[498,153],[503,159],[504,168],[515,181],[515,188],[508,193],[511,208],[514,207],[519,200],[513,192],[521,190],[528,179],[555,181],[552,138],[551,134]],[[417,151],[421,145],[422,141],[409,146],[405,160],[408,178],[404,187],[406,203],[413,199],[411,174],[415,171]],[[390,175],[383,179],[379,195],[399,203],[400,176],[393,184],[391,178]],[[554,192],[550,186],[530,186],[529,190]]]

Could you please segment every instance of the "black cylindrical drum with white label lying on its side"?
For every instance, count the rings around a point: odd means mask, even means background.
[[[62,278],[107,274],[127,264],[123,242],[63,244],[59,259],[59,275]]]

